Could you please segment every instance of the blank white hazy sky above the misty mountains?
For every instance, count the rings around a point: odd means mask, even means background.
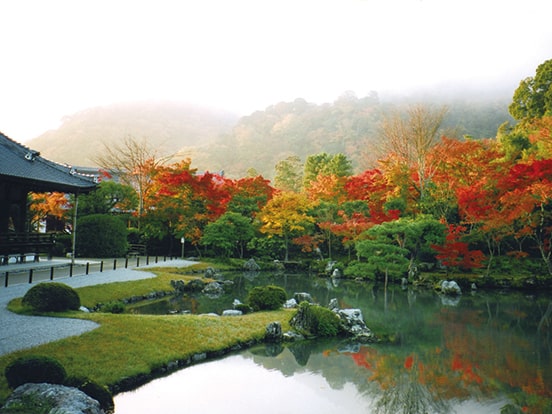
[[[511,85],[552,58],[550,0],[1,0],[0,131],[170,99],[238,114],[347,90]]]

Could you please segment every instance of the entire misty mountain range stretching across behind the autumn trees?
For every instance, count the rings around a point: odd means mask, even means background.
[[[241,118],[174,102],[117,104],[68,116],[57,130],[27,145],[54,161],[94,166],[105,145],[132,136],[146,138],[158,156],[191,158],[192,167],[201,171],[224,171],[231,178],[254,172],[270,179],[276,163],[289,156],[305,161],[320,152],[343,153],[360,172],[377,159],[383,117],[414,102],[445,105],[443,133],[449,137],[494,137],[499,125],[512,121],[508,95],[474,96],[426,94],[383,100],[375,92],[363,98],[344,93],[332,103],[299,98]]]

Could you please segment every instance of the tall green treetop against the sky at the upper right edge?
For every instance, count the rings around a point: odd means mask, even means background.
[[[552,115],[552,59],[541,63],[534,77],[520,82],[508,110],[522,123]]]

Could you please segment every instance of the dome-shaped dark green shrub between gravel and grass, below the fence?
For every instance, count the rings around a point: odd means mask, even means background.
[[[63,312],[80,307],[78,293],[63,283],[39,283],[23,296],[23,305],[39,312]]]

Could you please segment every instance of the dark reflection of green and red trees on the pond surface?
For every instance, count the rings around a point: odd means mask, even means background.
[[[355,300],[362,303],[355,303]],[[254,359],[287,376],[322,375],[334,389],[353,383],[379,413],[451,412],[451,401],[509,396],[530,412],[552,409],[551,319],[547,298],[465,296],[456,307],[396,291],[387,313],[377,295],[346,295],[365,319],[380,315],[401,331],[397,345],[299,342],[275,358]],[[342,303],[343,304],[343,303]],[[368,317],[366,316],[368,315]]]

